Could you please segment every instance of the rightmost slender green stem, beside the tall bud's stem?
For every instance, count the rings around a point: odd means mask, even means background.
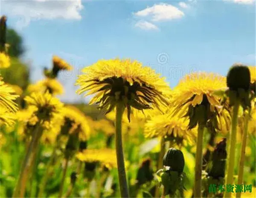
[[[245,117],[244,117],[245,120],[244,120],[244,131],[243,131],[243,137],[242,137],[241,154],[240,154],[239,170],[238,170],[238,182],[237,182],[238,184],[243,183],[245,147],[246,147],[246,140],[247,140],[250,110],[249,110],[249,112],[245,111]],[[237,192],[236,197],[241,198],[241,192]]]

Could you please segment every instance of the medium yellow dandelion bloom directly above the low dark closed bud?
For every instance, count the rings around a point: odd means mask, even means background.
[[[167,114],[155,116],[145,124],[146,138],[166,137],[176,144],[193,145],[196,140],[196,130],[188,130],[188,119]]]

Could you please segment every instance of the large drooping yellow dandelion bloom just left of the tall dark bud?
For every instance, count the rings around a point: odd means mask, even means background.
[[[174,114],[189,116],[189,128],[195,127],[198,119],[195,118],[198,105],[204,105],[207,124],[212,124],[215,129],[228,131],[230,126],[230,113],[221,104],[221,97],[213,94],[216,90],[226,88],[226,78],[213,73],[192,73],[186,75],[172,91],[172,105],[175,106]],[[194,116],[192,118],[191,116]]]

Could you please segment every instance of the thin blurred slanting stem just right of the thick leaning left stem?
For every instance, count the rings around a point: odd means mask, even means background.
[[[48,180],[48,177],[49,177],[49,173],[51,172],[50,170],[52,170],[52,164],[53,164],[53,161],[54,161],[54,159],[57,155],[56,151],[59,147],[59,138],[60,138],[60,135],[58,135],[57,138],[56,138],[57,144],[55,144],[55,147],[53,148],[52,155],[49,158],[49,161],[48,161],[47,166],[46,166],[44,177],[42,178],[42,182],[39,185],[38,197],[43,197],[43,193],[44,193],[44,189],[46,187],[46,183],[47,183],[47,180]]]

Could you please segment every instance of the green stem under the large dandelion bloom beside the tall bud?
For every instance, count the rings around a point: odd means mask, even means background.
[[[204,125],[199,124],[195,153],[194,198],[201,198]]]

